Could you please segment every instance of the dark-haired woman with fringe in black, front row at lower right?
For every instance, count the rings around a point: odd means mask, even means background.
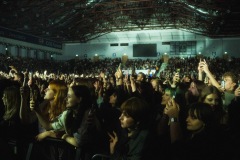
[[[179,108],[174,103],[164,111],[169,117],[177,118]],[[217,129],[214,112],[209,104],[197,102],[189,106],[186,118],[188,136],[182,136],[179,121],[170,122],[172,159],[221,159],[226,158],[224,142]]]

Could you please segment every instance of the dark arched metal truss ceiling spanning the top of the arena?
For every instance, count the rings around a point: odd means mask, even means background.
[[[238,0],[3,0],[0,9],[0,26],[58,42],[163,29],[240,36]]]

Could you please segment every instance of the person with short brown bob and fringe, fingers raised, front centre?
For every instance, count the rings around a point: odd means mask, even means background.
[[[156,139],[149,130],[151,108],[144,100],[132,97],[121,105],[121,111],[119,120],[126,134],[118,137],[115,132],[109,133],[112,159],[156,159]]]

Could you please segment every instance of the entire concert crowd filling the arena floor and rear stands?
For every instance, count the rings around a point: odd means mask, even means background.
[[[239,159],[240,59],[164,63],[0,54],[0,159]]]

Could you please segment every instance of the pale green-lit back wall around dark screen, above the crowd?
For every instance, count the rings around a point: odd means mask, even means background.
[[[196,54],[201,52],[202,55],[208,57],[219,56],[221,57],[224,52],[227,52],[230,56],[240,57],[240,38],[225,38],[225,39],[202,39],[196,40]],[[161,55],[167,52],[170,53],[170,45],[162,45],[162,42],[145,42],[147,43],[156,43],[157,44],[157,52]],[[141,42],[144,43],[144,42]],[[136,42],[130,42],[129,46],[110,46],[111,43],[103,43],[103,44],[87,44],[87,43],[76,43],[76,44],[65,44],[64,54],[63,56],[59,56],[59,59],[72,59],[78,55],[78,57],[84,58],[87,55],[87,58],[92,58],[95,54],[98,54],[100,59],[105,57],[115,58],[113,53],[115,53],[116,57],[121,58],[125,53],[128,55],[128,58],[132,59],[133,57],[133,44]],[[189,55],[170,55],[170,57],[174,56],[182,56],[186,57]],[[195,55],[192,55],[195,56]],[[146,58],[146,57],[145,57]]]

